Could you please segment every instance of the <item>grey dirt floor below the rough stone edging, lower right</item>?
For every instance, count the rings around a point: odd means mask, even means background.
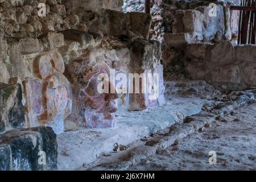
[[[250,102],[129,170],[255,170],[255,128],[256,103]],[[216,165],[209,164],[210,151]]]

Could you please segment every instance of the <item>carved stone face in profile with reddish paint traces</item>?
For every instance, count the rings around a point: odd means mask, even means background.
[[[114,127],[114,113],[117,111],[116,92],[110,93],[112,86],[109,84],[109,93],[98,90],[102,80],[98,76],[105,73],[110,76],[109,67],[105,62],[92,67],[85,64],[86,60],[73,61],[69,67],[69,76],[73,78],[73,111],[82,127],[102,128]],[[72,119],[75,119],[74,117]]]

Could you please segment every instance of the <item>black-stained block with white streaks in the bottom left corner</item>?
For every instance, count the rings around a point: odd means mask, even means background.
[[[56,169],[57,141],[50,127],[16,129],[0,135],[0,171]]]

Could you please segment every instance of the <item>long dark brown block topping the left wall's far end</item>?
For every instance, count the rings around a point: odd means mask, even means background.
[[[114,10],[98,10],[96,13],[86,11],[83,20],[88,26],[88,31],[105,36],[122,37],[134,40],[147,39],[150,33],[151,16],[144,13],[122,13]],[[93,17],[93,19],[92,19]]]

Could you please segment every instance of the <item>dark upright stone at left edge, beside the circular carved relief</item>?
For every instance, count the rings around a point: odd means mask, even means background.
[[[21,86],[0,84],[0,101],[0,133],[25,127]]]

